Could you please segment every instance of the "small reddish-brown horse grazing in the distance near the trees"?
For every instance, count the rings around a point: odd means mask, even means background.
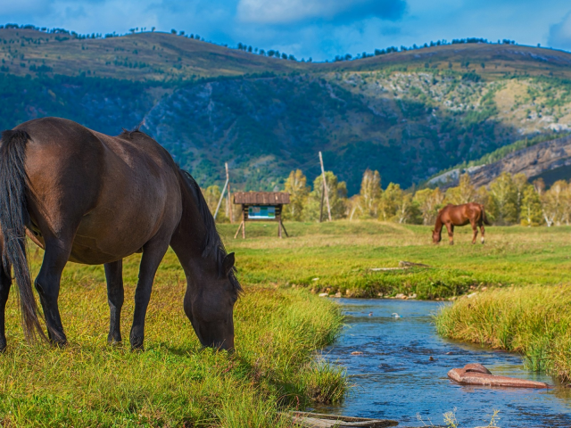
[[[454,226],[472,225],[474,235],[472,236],[472,243],[476,243],[476,236],[478,235],[477,227],[480,226],[482,231],[482,243],[484,243],[484,225],[490,226],[488,218],[485,217],[484,205],[476,202],[465,203],[463,205],[452,205],[449,203],[442,210],[438,211],[436,224],[432,231],[433,243],[440,243],[442,241],[443,225],[448,230],[448,238],[450,244],[454,244]]]

